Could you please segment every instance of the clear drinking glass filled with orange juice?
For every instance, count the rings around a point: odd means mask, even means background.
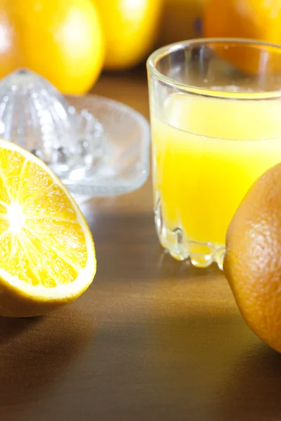
[[[155,224],[193,265],[217,262],[237,206],[281,161],[281,46],[198,39],[148,59]]]

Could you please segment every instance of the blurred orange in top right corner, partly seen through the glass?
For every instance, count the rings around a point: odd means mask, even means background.
[[[281,0],[209,0],[203,13],[203,34],[281,44]],[[219,54],[249,74],[281,69],[280,57],[264,62],[265,57],[254,49],[233,48]]]

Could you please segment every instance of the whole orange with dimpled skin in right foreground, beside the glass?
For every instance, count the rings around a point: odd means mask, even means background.
[[[281,352],[281,163],[244,197],[226,236],[223,270],[244,320]]]

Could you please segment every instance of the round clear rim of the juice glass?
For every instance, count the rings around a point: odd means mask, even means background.
[[[159,81],[162,81],[168,86],[172,88],[177,88],[178,91],[183,91],[185,93],[190,93],[193,95],[201,95],[207,96],[212,98],[221,98],[225,100],[230,99],[240,99],[240,100],[266,100],[266,99],[274,99],[274,98],[281,98],[281,88],[277,91],[256,91],[256,92],[247,92],[247,91],[240,91],[239,93],[235,93],[232,91],[224,90],[219,91],[218,89],[212,88],[202,88],[199,86],[189,85],[188,83],[183,83],[180,81],[176,81],[169,76],[166,76],[162,72],[156,68],[157,62],[159,59],[163,58],[174,51],[180,51],[183,48],[192,47],[192,46],[202,46],[207,44],[249,44],[250,46],[263,46],[268,48],[275,48],[281,54],[281,45],[269,43],[267,41],[260,41],[258,39],[247,39],[247,38],[231,38],[231,37],[219,37],[219,38],[196,38],[196,39],[188,39],[185,41],[178,41],[174,44],[168,44],[166,46],[157,48],[157,50],[153,51],[146,61],[146,66],[148,72],[153,74],[157,77]]]

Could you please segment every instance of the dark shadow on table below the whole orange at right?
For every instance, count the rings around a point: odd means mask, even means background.
[[[281,355],[266,345],[256,345],[230,371],[220,420],[280,420],[280,391]]]

